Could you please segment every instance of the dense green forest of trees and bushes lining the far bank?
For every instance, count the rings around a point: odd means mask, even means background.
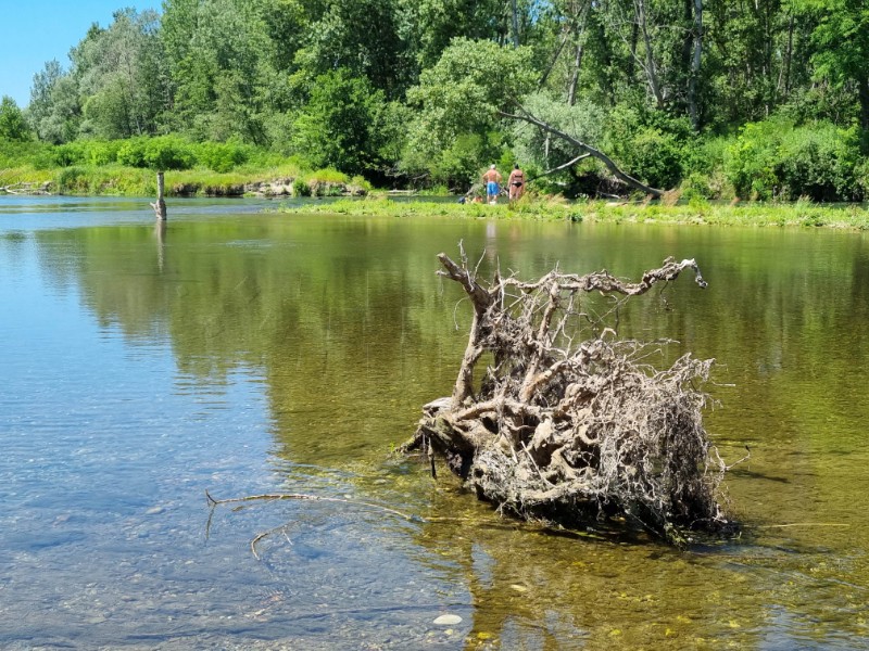
[[[630,191],[616,168],[864,201],[867,62],[862,0],[164,0],[2,99],[0,169],[293,161],[466,190],[516,162],[568,196]]]

